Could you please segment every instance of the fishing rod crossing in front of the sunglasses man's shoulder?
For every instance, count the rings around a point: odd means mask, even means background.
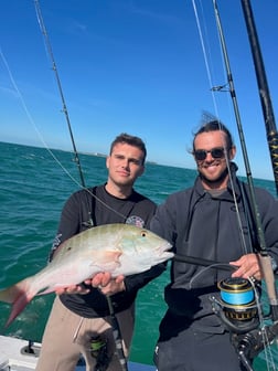
[[[218,9],[217,9],[216,0],[213,0],[213,4],[214,4],[214,12],[215,12],[215,18],[216,18],[216,24],[217,24],[217,29],[218,29],[220,40],[221,40],[222,52],[223,52],[223,56],[224,56],[224,63],[225,63],[226,73],[227,73],[229,93],[231,93],[231,97],[232,97],[232,100],[233,100],[233,106],[234,106],[234,112],[235,112],[235,117],[236,117],[236,123],[237,123],[237,129],[238,129],[238,135],[239,135],[239,139],[240,139],[243,157],[244,157],[244,162],[245,162],[245,168],[246,168],[248,188],[249,188],[249,193],[250,193],[249,194],[250,195],[250,202],[252,202],[252,205],[253,205],[253,213],[254,213],[254,218],[255,218],[255,224],[256,224],[258,243],[259,243],[259,254],[258,254],[258,256],[259,256],[259,262],[261,264],[261,268],[263,268],[263,272],[264,272],[264,278],[265,278],[265,282],[266,282],[267,295],[268,295],[269,306],[270,306],[270,317],[271,317],[272,322],[275,324],[275,325],[272,325],[272,327],[274,327],[272,331],[275,333],[275,337],[277,337],[278,336],[278,329],[276,329],[275,326],[276,326],[276,322],[278,320],[278,299],[277,299],[277,293],[276,293],[276,287],[275,287],[275,276],[274,276],[274,271],[272,271],[272,265],[271,265],[271,258],[270,258],[270,256],[267,252],[267,246],[266,246],[265,235],[264,235],[264,231],[263,231],[260,214],[259,214],[258,205],[257,205],[257,202],[256,202],[253,176],[252,176],[252,171],[250,171],[250,166],[249,166],[245,138],[244,138],[244,132],[243,132],[243,126],[242,126],[238,105],[237,105],[237,99],[236,99],[236,93],[235,93],[235,88],[234,88],[234,83],[233,83],[232,72],[231,72],[231,67],[229,67],[228,55],[227,55],[227,49],[226,49],[225,39],[224,39],[223,30],[222,30],[222,24],[221,24],[221,19],[220,19],[220,13],[218,13]],[[256,333],[259,338],[259,333],[261,332],[261,330],[258,329],[256,331],[257,331]],[[254,341],[254,338],[255,338],[255,336],[252,337],[253,341]],[[247,339],[247,340],[249,340],[249,339]],[[238,343],[238,347],[240,348],[242,343]],[[239,348],[238,348],[238,352],[240,353],[240,352],[243,352],[244,347],[242,347],[240,349]],[[244,359],[244,356],[245,354],[242,353],[243,360],[247,361],[247,359]],[[250,368],[250,370],[252,370],[252,368]]]

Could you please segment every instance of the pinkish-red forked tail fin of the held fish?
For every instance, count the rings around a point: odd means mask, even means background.
[[[9,303],[12,305],[10,317],[6,324],[8,327],[25,306],[32,300],[35,294],[31,294],[31,280],[25,278],[18,284],[0,290],[0,301]]]

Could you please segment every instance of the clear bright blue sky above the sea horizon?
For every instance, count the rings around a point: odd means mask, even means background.
[[[108,153],[120,132],[140,136],[148,160],[194,169],[203,112],[231,129],[245,163],[212,0],[1,0],[0,140]],[[240,0],[218,0],[254,178],[274,179]],[[278,112],[278,1],[252,0],[274,113]],[[196,12],[195,12],[196,10]],[[199,29],[200,25],[200,29]],[[61,83],[61,91],[56,76]],[[278,125],[278,124],[277,124]]]

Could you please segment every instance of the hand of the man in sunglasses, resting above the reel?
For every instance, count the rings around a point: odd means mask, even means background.
[[[229,264],[237,266],[237,271],[232,274],[232,277],[249,278],[254,277],[258,280],[263,278],[263,272],[259,265],[259,258],[256,254],[243,255],[239,259],[229,262]]]

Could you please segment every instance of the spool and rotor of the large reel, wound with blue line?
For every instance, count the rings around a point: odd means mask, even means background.
[[[226,278],[217,284],[220,299],[211,297],[213,311],[228,331],[246,333],[259,326],[254,285],[245,278]]]

